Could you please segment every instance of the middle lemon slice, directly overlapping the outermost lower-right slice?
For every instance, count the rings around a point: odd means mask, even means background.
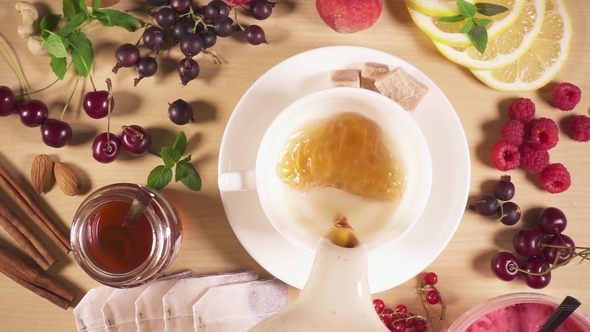
[[[518,19],[508,30],[490,40],[483,54],[473,46],[455,48],[437,41],[436,48],[447,59],[469,69],[493,70],[520,59],[541,32],[545,18],[545,2],[528,0]]]

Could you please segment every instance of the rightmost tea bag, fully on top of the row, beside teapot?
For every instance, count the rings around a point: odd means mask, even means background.
[[[195,331],[247,331],[288,303],[287,285],[277,279],[211,287],[193,306]]]

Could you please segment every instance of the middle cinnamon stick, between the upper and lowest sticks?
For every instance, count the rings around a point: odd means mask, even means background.
[[[43,270],[47,270],[57,260],[51,255],[45,245],[33,233],[26,224],[18,219],[6,205],[0,202],[0,226],[12,236],[25,252],[39,264]]]

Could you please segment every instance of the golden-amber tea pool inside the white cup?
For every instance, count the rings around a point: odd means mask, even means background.
[[[299,190],[334,187],[375,201],[404,190],[404,174],[381,128],[349,112],[310,124],[284,145],[277,167],[282,181]]]

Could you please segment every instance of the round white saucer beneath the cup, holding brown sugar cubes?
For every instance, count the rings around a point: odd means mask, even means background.
[[[369,256],[369,287],[378,293],[422,272],[455,233],[469,193],[470,162],[463,127],[449,100],[426,75],[390,54],[355,46],[331,46],[295,55],[262,75],[246,91],[221,141],[218,173],[253,170],[258,145],[272,120],[290,103],[330,87],[330,72],[361,69],[365,62],[402,66],[430,91],[411,114],[432,156],[432,189],[420,220],[392,247]],[[287,242],[270,224],[255,191],[221,192],[233,231],[269,273],[303,288],[313,255]]]

